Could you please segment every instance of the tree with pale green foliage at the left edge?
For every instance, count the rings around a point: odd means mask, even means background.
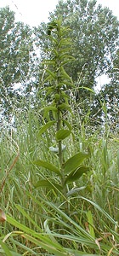
[[[27,89],[34,66],[31,28],[15,22],[14,12],[8,7],[0,10],[1,92],[3,113],[9,114],[15,104],[19,106],[23,90]],[[14,85],[20,85],[15,90]]]

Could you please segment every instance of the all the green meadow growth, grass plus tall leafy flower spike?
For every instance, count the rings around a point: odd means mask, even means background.
[[[68,31],[48,24],[41,106],[2,130],[0,255],[119,255],[119,138],[106,108],[101,127],[81,119]]]

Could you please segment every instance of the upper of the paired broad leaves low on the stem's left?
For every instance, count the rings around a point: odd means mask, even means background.
[[[42,166],[44,168],[47,168],[49,171],[51,172],[55,172],[57,173],[58,175],[60,175],[60,172],[59,172],[59,169],[52,165],[51,163],[47,162],[47,161],[42,161],[42,160],[36,160],[36,161],[33,161],[33,163],[36,165],[36,166]]]

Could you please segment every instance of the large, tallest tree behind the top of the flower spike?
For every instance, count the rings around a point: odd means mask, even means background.
[[[62,17],[64,26],[71,27],[73,47],[69,51],[76,59],[65,66],[66,71],[77,84],[77,88],[94,88],[96,78],[111,70],[119,22],[110,9],[102,8],[100,4],[97,6],[95,0],[59,1],[49,19],[59,16]],[[44,23],[36,29],[37,44],[39,38],[43,56],[47,53],[49,44],[47,38],[44,40],[45,31]],[[81,97],[82,100],[86,95],[90,96],[89,91],[86,94],[86,91],[80,89],[77,98]]]

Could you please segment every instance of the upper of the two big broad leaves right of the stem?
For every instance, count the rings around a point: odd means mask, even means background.
[[[65,174],[75,171],[86,158],[88,158],[88,154],[82,152],[71,156],[71,158],[68,159],[64,164]]]

